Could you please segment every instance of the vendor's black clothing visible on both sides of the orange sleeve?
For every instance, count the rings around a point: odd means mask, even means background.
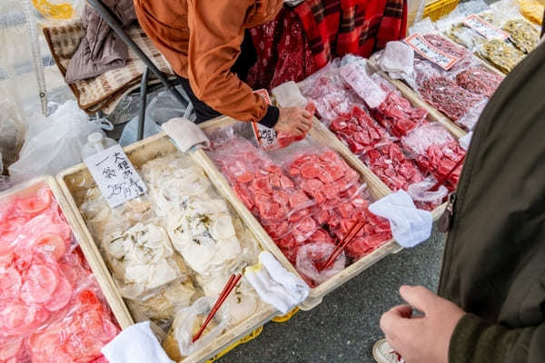
[[[250,35],[250,32],[246,30],[244,32],[243,44],[241,44],[241,54],[233,64],[233,67],[231,67],[231,72],[237,74],[241,81],[246,82],[248,71],[250,71],[250,68],[253,67],[255,62],[257,62],[257,52],[253,46],[252,36]],[[180,83],[182,84],[185,93],[189,96],[191,103],[193,103],[193,109],[197,115],[196,123],[203,123],[204,121],[222,115],[195,96],[187,78],[180,77]]]

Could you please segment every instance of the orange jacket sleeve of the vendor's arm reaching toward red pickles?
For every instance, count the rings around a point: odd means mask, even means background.
[[[188,75],[203,103],[236,120],[257,123],[270,113],[268,104],[231,72],[241,52],[244,20],[254,5],[255,0],[188,1]]]

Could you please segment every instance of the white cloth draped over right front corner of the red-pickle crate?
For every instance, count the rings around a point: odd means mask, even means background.
[[[402,247],[414,247],[431,236],[431,213],[417,209],[406,191],[375,201],[369,211],[390,221],[391,234]]]

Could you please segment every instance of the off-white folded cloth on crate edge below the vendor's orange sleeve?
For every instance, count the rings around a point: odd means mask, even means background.
[[[163,131],[176,142],[181,152],[188,152],[193,148],[207,149],[210,146],[210,140],[206,137],[203,130],[190,120],[178,117],[163,123]]]

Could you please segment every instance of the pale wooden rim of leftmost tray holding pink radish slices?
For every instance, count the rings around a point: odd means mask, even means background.
[[[55,201],[59,204],[61,211],[63,211],[64,218],[70,225],[74,238],[79,243],[79,246],[84,253],[85,260],[89,263],[95,279],[98,282],[100,289],[104,294],[104,298],[108,302],[110,309],[114,313],[115,319],[122,329],[125,329],[134,324],[129,310],[126,308],[121,295],[117,291],[114,280],[104,265],[104,260],[100,255],[95,253],[93,248],[90,248],[84,239],[84,231],[81,229],[80,223],[77,221],[74,211],[70,207],[68,201],[64,198],[64,194],[59,188],[59,185],[55,182],[52,176],[42,176],[35,178],[29,182],[25,182],[22,185],[16,186],[14,189],[5,191],[0,194],[0,201],[7,198],[11,198],[15,195],[29,194],[37,191],[40,188],[48,187],[54,195]]]

